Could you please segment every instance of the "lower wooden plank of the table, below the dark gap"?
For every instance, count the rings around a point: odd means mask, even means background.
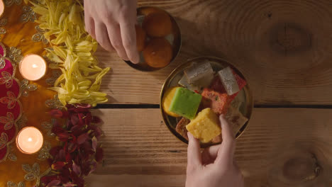
[[[89,186],[184,186],[187,145],[158,109],[102,109],[103,166]],[[331,109],[255,109],[238,139],[236,160],[247,186],[332,185]]]

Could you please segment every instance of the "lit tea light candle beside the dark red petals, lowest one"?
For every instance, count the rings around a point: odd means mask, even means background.
[[[37,128],[23,128],[16,137],[16,145],[24,154],[38,152],[43,146],[43,135]]]

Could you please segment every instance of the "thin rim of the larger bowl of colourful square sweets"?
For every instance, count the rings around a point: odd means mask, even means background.
[[[189,63],[192,63],[194,61],[197,61],[197,60],[214,60],[214,62],[224,62],[226,64],[228,64],[229,66],[233,67],[233,69],[236,70],[236,72],[240,73],[240,76],[243,77],[245,79],[245,81],[247,82],[246,86],[248,89],[246,90],[246,92],[248,92],[246,94],[246,97],[247,96],[250,96],[250,99],[249,99],[249,103],[247,104],[248,106],[250,106],[250,108],[248,108],[248,116],[245,116],[248,118],[248,121],[245,123],[245,125],[243,125],[239,132],[236,134],[236,138],[235,139],[238,139],[238,137],[240,137],[241,135],[243,135],[243,132],[245,132],[245,130],[248,129],[248,125],[249,125],[249,122],[250,122],[250,119],[251,119],[251,115],[253,114],[253,94],[252,94],[252,91],[250,89],[250,85],[248,83],[248,79],[246,79],[243,75],[242,72],[240,72],[240,70],[238,68],[236,68],[233,64],[231,64],[230,62],[228,62],[227,60],[224,60],[223,58],[219,58],[219,57],[212,57],[212,56],[200,56],[200,57],[194,57],[194,58],[191,58],[189,60],[187,60],[187,62],[184,62],[183,64],[179,64],[179,66],[177,66],[175,69],[173,69],[173,71],[167,76],[167,78],[165,79],[164,81],[164,84],[162,84],[162,89],[160,91],[160,102],[159,102],[159,106],[160,106],[160,114],[162,115],[162,121],[165,123],[165,125],[167,126],[167,129],[170,130],[170,132],[172,133],[172,135],[174,135],[175,137],[177,137],[178,140],[180,140],[181,142],[183,142],[184,144],[188,144],[188,140],[186,140],[184,137],[182,137],[182,135],[179,135],[179,133],[173,129],[172,127],[170,127],[170,124],[166,123],[167,120],[165,120],[165,114],[163,109],[162,109],[162,95],[164,94],[164,89],[165,89],[165,86],[166,84],[169,83],[170,81],[170,78],[176,74],[177,72],[180,72],[183,70],[183,67],[187,66]],[[181,70],[179,70],[181,69]],[[204,144],[201,144],[201,147],[210,147],[210,146],[213,146],[213,145],[219,145],[221,144],[221,142],[218,142],[218,143],[213,143],[213,144],[207,144],[207,145],[204,145]]]

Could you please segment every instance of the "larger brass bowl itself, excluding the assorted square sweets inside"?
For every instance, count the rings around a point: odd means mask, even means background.
[[[169,89],[172,86],[177,86],[178,85],[177,82],[179,81],[179,79],[182,78],[184,69],[191,66],[193,62],[204,62],[205,60],[209,60],[209,62],[211,63],[211,66],[212,66],[212,68],[214,69],[215,72],[221,70],[223,67],[228,67],[229,66],[229,67],[233,68],[234,71],[236,71],[236,73],[240,77],[245,79],[243,74],[238,69],[236,69],[236,67],[234,67],[229,62],[226,62],[225,60],[222,60],[222,59],[217,58],[217,57],[196,57],[196,58],[193,58],[191,60],[188,60],[186,63],[184,63],[182,65],[179,65],[179,67],[174,69],[174,71],[167,77],[164,84],[162,85],[162,90],[161,90],[161,93],[160,93],[160,113],[162,115],[162,120],[167,125],[167,128],[170,130],[170,132],[172,132],[172,134],[175,135],[175,137],[177,137],[177,139],[181,140],[182,142],[184,142],[186,144],[188,144],[188,141],[184,137],[182,137],[182,135],[180,135],[175,130],[175,127],[177,125],[176,118],[174,118],[170,115],[167,115],[167,113],[165,113],[164,110],[162,109],[162,97],[164,96],[165,91],[167,91],[167,89]],[[245,81],[247,81],[247,79],[245,79]],[[239,94],[239,96],[240,96],[240,94]],[[248,86],[248,81],[247,81],[247,85],[243,88],[242,97],[244,99],[243,99],[242,107],[240,108],[240,112],[243,113],[243,115],[246,118],[248,118],[248,121],[245,123],[245,125],[243,125],[240,128],[240,130],[236,134],[236,138],[240,137],[240,135],[242,135],[243,132],[245,131],[245,129],[247,128],[248,123],[250,121],[251,113],[253,111],[253,95],[251,94],[250,87]],[[219,143],[201,144],[201,146],[202,147],[209,147],[211,145],[217,145],[217,144],[220,144],[220,142]]]

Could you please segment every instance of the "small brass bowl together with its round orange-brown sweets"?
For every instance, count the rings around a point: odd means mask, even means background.
[[[181,47],[181,33],[175,18],[160,8],[143,6],[137,9],[137,21],[135,30],[140,62],[125,62],[140,71],[151,72],[175,60]]]

